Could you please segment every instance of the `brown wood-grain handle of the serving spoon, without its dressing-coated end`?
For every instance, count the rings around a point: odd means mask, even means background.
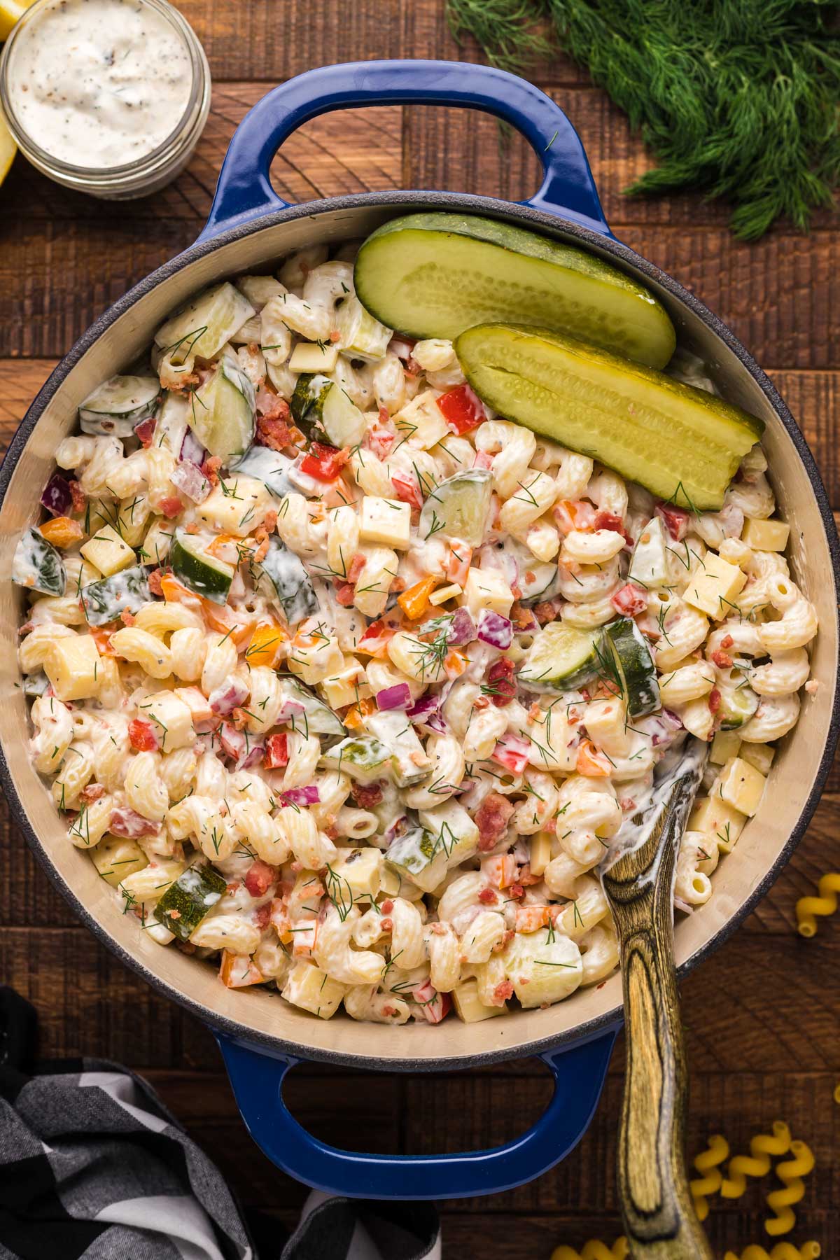
[[[618,1188],[633,1260],[713,1260],[685,1172],[688,1067],[676,973],[671,874],[662,868],[611,896],[621,942],[626,1077],[618,1131]],[[654,872],[651,872],[654,873]],[[604,887],[610,895],[610,874]]]

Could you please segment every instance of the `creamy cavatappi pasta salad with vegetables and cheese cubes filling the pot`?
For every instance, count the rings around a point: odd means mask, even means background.
[[[225,985],[475,1022],[615,969],[594,868],[685,732],[707,901],[817,622],[759,446],[722,510],[656,501],[392,335],[350,257],[217,285],[82,403],[14,563],[31,757]]]

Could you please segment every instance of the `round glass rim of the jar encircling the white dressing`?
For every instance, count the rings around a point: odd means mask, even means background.
[[[3,53],[0,54],[0,115],[5,117],[11,137],[24,156],[29,158],[34,165],[42,169],[45,174],[52,174],[54,171],[57,175],[73,179],[79,185],[108,185],[111,183],[118,183],[126,176],[131,176],[132,181],[135,179],[140,180],[144,176],[157,171],[157,169],[173,156],[173,150],[179,145],[179,142],[189,136],[195,121],[200,121],[204,112],[203,102],[208,94],[209,71],[204,49],[198,35],[188,23],[186,18],[184,18],[184,15],[179,13],[174,5],[169,4],[169,0],[136,0],[136,3],[146,5],[159,13],[170,23],[170,25],[178,32],[178,35],[183,39],[190,58],[191,87],[190,96],[183,113],[179,116],[173,131],[169,132],[161,144],[150,150],[150,152],[144,154],[142,158],[137,158],[130,163],[123,163],[120,166],[77,166],[73,163],[63,161],[60,158],[55,158],[54,154],[42,149],[40,145],[38,145],[29,136],[25,127],[20,125],[11,103],[8,86],[9,66],[15,37],[25,24],[33,21],[45,9],[54,5],[55,0],[35,0],[35,3],[24,11],[13,28]],[[196,110],[198,118],[195,118]]]

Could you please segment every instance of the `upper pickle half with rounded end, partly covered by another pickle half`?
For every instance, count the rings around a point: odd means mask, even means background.
[[[470,214],[408,214],[359,249],[355,290],[378,320],[409,336],[455,340],[475,324],[564,329],[664,368],[676,344],[651,292],[594,255]]]

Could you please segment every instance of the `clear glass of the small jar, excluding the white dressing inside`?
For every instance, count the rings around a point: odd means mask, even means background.
[[[99,3],[107,8],[107,0],[99,0]],[[113,0],[115,13],[122,3],[125,0]],[[169,184],[189,161],[204,130],[204,123],[210,110],[210,68],[204,49],[190,24],[166,0],[131,0],[127,10],[136,14],[147,10],[150,16],[157,15],[159,19],[162,19],[171,26],[173,39],[179,40],[189,63],[189,73],[191,74],[189,98],[174,129],[150,152],[141,154],[125,163],[102,166],[79,166],[65,161],[63,158],[58,158],[55,154],[48,152],[42,145],[37,144],[28,135],[20,117],[21,93],[26,88],[15,77],[16,50],[21,48],[24,33],[33,23],[50,20],[50,9],[62,13],[64,6],[57,4],[57,0],[35,0],[13,28],[0,57],[0,111],[24,158],[33,166],[38,168],[38,170],[43,171],[44,175],[55,180],[55,183],[107,200],[128,200],[136,197],[146,197],[149,193],[154,193],[165,184]],[[98,38],[103,30],[102,24],[101,21],[98,25],[96,24],[97,18],[93,11],[91,16],[94,23],[91,26],[91,32]],[[34,29],[29,33],[34,38]],[[112,66],[113,62],[108,63],[106,59],[102,64]],[[156,63],[150,58],[150,64]],[[39,82],[42,82],[40,74]],[[154,73],[150,74],[150,83],[154,88]],[[55,107],[62,108],[58,102]],[[92,116],[96,108],[99,108],[99,106],[92,107]]]

